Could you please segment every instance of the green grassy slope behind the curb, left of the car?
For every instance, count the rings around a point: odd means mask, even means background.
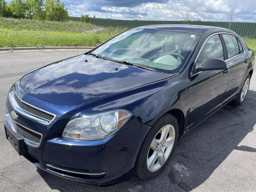
[[[95,46],[127,30],[113,28],[91,34],[101,26],[80,21],[54,22],[0,17],[0,47]]]

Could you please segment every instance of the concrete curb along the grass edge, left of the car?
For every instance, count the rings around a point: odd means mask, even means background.
[[[95,47],[0,47],[0,52],[12,51],[43,51],[43,50],[85,50]]]

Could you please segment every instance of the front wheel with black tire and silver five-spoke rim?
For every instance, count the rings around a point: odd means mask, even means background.
[[[151,127],[139,150],[134,171],[144,180],[159,175],[167,166],[178,140],[178,122],[164,114]]]

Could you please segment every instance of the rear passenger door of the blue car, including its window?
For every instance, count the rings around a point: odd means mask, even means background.
[[[222,37],[227,51],[227,68],[230,68],[229,84],[225,100],[223,101],[223,104],[225,104],[238,94],[239,87],[242,85],[245,78],[244,76],[248,63],[246,63],[247,54],[245,54],[244,48],[239,39],[235,35],[231,34],[222,34]]]

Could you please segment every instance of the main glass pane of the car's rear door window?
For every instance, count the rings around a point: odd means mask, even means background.
[[[222,34],[227,47],[228,58],[234,57],[240,54],[239,46],[237,43],[237,38],[233,35]]]

